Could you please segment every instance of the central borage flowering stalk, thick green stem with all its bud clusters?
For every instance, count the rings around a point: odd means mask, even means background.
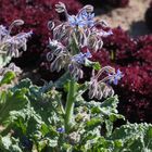
[[[102,36],[111,35],[110,31],[98,29],[97,26],[105,26],[103,21],[94,21],[93,8],[86,5],[77,15],[69,15],[63,3],[56,4],[56,11],[59,13],[65,13],[66,22],[54,25],[53,22],[49,22],[50,29],[53,30],[53,39],[50,39],[50,51],[47,54],[48,61],[52,61],[50,69],[60,72],[61,68],[65,69],[64,76],[66,85],[67,97],[65,105],[65,132],[71,132],[74,127],[74,109],[77,96],[79,96],[78,88],[84,86],[84,90],[89,90],[89,97],[101,100],[102,98],[113,97],[114,91],[110,86],[111,83],[117,84],[117,80],[122,78],[122,73],[111,66],[100,68],[99,63],[91,62],[91,51],[98,51],[102,48]],[[55,27],[54,27],[55,26]],[[80,50],[86,47],[86,52]],[[90,81],[85,84],[78,84],[78,80],[85,75],[83,66],[92,67],[92,76]],[[99,71],[96,74],[96,71]],[[98,80],[99,77],[105,72],[105,77]],[[62,81],[63,83],[63,81]],[[56,81],[55,84],[59,84]],[[61,85],[61,84],[60,84]],[[58,86],[55,86],[58,87]],[[60,86],[61,87],[61,86]],[[65,86],[63,86],[65,87]]]

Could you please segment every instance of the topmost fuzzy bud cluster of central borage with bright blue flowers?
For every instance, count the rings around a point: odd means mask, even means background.
[[[103,21],[94,21],[92,5],[84,7],[77,15],[69,15],[64,3],[55,5],[58,13],[64,13],[66,22],[55,26],[54,22],[49,22],[48,27],[53,30],[53,39],[69,45],[74,39],[78,47],[88,47],[97,51],[102,48],[102,36],[109,36],[111,30],[98,30],[97,26],[107,26]]]

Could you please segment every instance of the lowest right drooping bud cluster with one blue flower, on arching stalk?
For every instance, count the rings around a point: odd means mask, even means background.
[[[100,78],[102,74],[106,72],[107,76]],[[89,98],[97,98],[101,100],[102,98],[107,98],[114,96],[114,90],[110,86],[111,83],[117,85],[118,80],[123,77],[123,74],[119,69],[115,72],[115,68],[111,66],[102,67],[97,75],[93,74],[89,85]],[[100,80],[98,80],[100,78]]]

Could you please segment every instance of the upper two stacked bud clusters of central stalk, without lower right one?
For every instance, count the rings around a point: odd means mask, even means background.
[[[47,54],[47,60],[51,63],[51,72],[60,72],[61,68],[68,69],[76,79],[83,78],[81,65],[86,59],[91,58],[89,50],[97,51],[102,48],[102,37],[112,35],[111,30],[98,29],[97,26],[105,27],[103,21],[94,21],[92,5],[84,7],[77,15],[69,15],[64,3],[56,5],[58,13],[64,13],[66,22],[55,25],[50,21],[48,27],[53,33],[53,38],[49,40],[51,51]],[[65,47],[66,46],[66,47]],[[80,52],[83,47],[87,47],[87,52]]]

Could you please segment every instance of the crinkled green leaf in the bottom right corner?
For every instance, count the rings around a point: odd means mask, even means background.
[[[152,150],[151,130],[151,124],[127,124],[116,128],[110,139],[115,143],[121,140],[121,144],[123,144],[122,151],[140,152],[145,149]],[[115,150],[121,144],[115,144]]]

